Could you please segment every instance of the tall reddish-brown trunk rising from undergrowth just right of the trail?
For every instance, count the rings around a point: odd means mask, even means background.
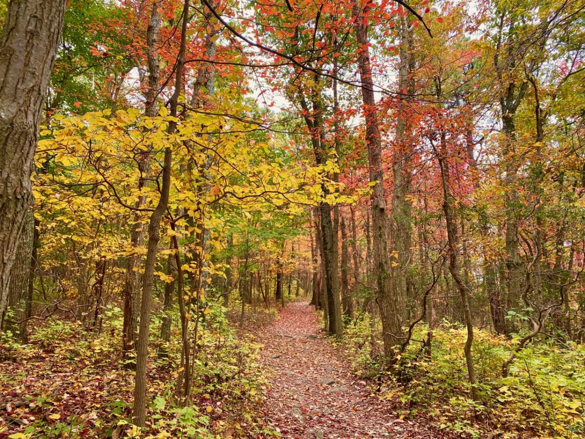
[[[366,6],[367,9],[367,6]],[[367,13],[367,10],[364,11]],[[402,337],[404,322],[404,298],[396,296],[391,289],[390,255],[388,251],[388,225],[386,218],[386,197],[384,196],[384,169],[382,163],[382,145],[376,115],[376,100],[371,77],[370,54],[367,50],[367,25],[361,16],[357,4],[353,14],[356,17],[356,41],[366,49],[359,53],[359,70],[362,79],[362,101],[366,119],[366,145],[368,150],[371,193],[371,222],[373,241],[373,264],[376,276],[376,291],[380,317],[382,321],[382,338],[384,355],[387,359],[394,357],[394,347]]]

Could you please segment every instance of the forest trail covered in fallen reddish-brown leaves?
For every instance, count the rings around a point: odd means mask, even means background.
[[[399,419],[389,402],[371,396],[341,349],[318,335],[313,311],[307,302],[290,303],[260,335],[267,423],[291,439],[444,437]]]

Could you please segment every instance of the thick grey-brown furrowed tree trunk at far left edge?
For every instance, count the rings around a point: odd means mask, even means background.
[[[32,204],[30,174],[65,0],[13,0],[0,38],[0,328],[10,273]]]

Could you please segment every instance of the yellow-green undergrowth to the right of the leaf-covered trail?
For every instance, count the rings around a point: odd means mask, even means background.
[[[417,328],[412,339],[422,341],[427,330]],[[400,400],[403,416],[425,413],[440,428],[464,437],[585,437],[583,345],[538,338],[519,352],[508,377],[502,378],[502,363],[517,338],[474,332],[481,402],[470,399],[461,325],[445,323],[433,331],[430,358],[420,342],[412,341],[398,373],[384,371],[383,347],[378,330],[372,337],[368,315],[346,327],[344,344],[356,372],[383,383],[379,395]]]

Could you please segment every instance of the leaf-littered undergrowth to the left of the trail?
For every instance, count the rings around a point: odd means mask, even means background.
[[[229,324],[225,308],[212,305],[198,325],[194,383],[186,407],[175,395],[180,362],[180,330],[174,311],[171,340],[159,338],[161,314],[153,316],[148,369],[147,428],[131,424],[134,373],[123,361],[122,315],[106,310],[100,328],[51,317],[37,325],[29,344],[9,338],[0,344],[2,402],[0,436],[12,439],[57,437],[218,438],[273,435],[259,419],[266,382],[257,364],[260,346]],[[253,314],[267,323],[270,315]],[[260,324],[258,323],[258,324]],[[162,351],[165,355],[157,355]]]

